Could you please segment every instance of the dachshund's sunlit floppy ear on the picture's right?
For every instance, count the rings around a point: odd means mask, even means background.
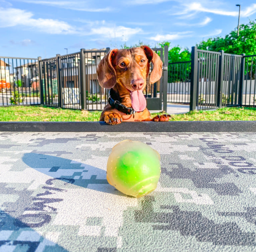
[[[148,46],[141,46],[144,50],[144,53],[147,56],[148,61],[152,61],[153,63],[153,70],[150,74],[150,83],[155,83],[162,77],[162,65],[163,62],[161,61],[158,54],[156,54],[152,49]]]

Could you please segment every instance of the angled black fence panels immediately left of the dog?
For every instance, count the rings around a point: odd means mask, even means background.
[[[109,50],[107,48],[107,50]],[[85,50],[39,61],[41,103],[69,109],[102,110],[108,91],[99,85],[96,68],[107,50]]]

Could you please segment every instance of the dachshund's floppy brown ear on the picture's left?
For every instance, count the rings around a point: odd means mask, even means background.
[[[116,71],[112,65],[113,57],[116,56],[118,49],[109,51],[97,66],[99,84],[104,88],[112,88],[116,84]]]

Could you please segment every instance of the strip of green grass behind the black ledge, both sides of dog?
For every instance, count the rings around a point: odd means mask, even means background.
[[[101,111],[81,111],[45,106],[0,107],[0,121],[98,121]],[[153,113],[152,116],[162,113]],[[254,107],[229,107],[215,111],[191,111],[171,115],[170,121],[252,121],[256,120]]]

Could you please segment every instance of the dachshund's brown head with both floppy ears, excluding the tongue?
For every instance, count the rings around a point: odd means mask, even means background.
[[[146,86],[150,62],[153,70],[150,83],[162,76],[162,61],[148,46],[130,49],[113,49],[100,61],[97,67],[99,83],[104,88],[112,88],[119,83],[129,91],[143,90]]]

